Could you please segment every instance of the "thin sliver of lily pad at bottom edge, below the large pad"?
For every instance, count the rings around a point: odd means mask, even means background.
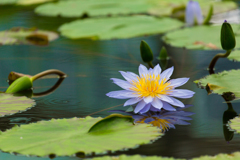
[[[166,158],[159,156],[140,156],[140,155],[120,155],[120,156],[104,156],[93,158],[92,160],[184,160],[184,159],[175,159],[175,158]]]

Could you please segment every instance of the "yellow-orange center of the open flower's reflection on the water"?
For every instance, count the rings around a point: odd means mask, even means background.
[[[145,123],[144,121],[146,118],[149,118],[149,117],[146,116],[136,121],[136,123]],[[152,118],[154,119],[154,121],[149,122],[149,124],[152,124],[153,126],[161,128],[162,132],[165,132],[170,128],[168,125],[170,122],[167,119],[159,119],[157,117],[152,117]]]

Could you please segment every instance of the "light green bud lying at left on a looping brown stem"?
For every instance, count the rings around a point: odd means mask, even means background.
[[[32,88],[32,81],[29,77],[23,76],[15,80],[7,89],[6,93],[17,93]]]

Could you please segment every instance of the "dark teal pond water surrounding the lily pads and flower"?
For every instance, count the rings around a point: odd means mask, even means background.
[[[60,24],[71,21],[64,18],[46,18],[37,16],[33,8],[0,7],[0,30],[16,26],[38,27],[57,31]],[[125,100],[113,99],[105,94],[119,90],[110,78],[122,78],[119,70],[138,73],[139,64],[143,64],[139,45],[147,41],[157,57],[163,43],[161,36],[138,37],[126,40],[91,41],[70,40],[64,37],[51,42],[48,46],[1,46],[0,47],[0,89],[6,90],[8,74],[11,71],[34,75],[47,69],[59,69],[68,77],[59,88],[50,95],[33,97],[36,106],[15,115],[0,118],[0,129],[6,130],[15,124],[28,124],[52,118],[105,117],[111,109],[123,109]],[[193,51],[167,46],[170,60],[166,68],[174,66],[171,78],[190,77],[187,84],[180,88],[190,89],[196,94],[193,98],[183,100],[193,107],[185,111],[195,114],[191,125],[176,125],[152,144],[141,145],[137,149],[117,151],[109,155],[141,154],[159,155],[175,158],[193,158],[201,155],[215,155],[239,151],[240,136],[234,135],[227,142],[223,133],[223,113],[228,105],[220,95],[207,94],[194,80],[208,75],[207,66],[212,57],[221,51]],[[159,63],[157,59],[154,64]],[[146,65],[146,64],[145,64]],[[220,59],[215,72],[238,69],[240,63]],[[34,93],[45,91],[56,79],[40,79],[34,82]],[[240,113],[239,103],[233,108]],[[37,134],[37,133],[33,133]],[[9,153],[0,153],[0,159],[28,160],[49,159],[48,157],[26,157]],[[56,160],[73,160],[78,157],[57,157]]]

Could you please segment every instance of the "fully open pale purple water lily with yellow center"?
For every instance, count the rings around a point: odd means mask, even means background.
[[[120,71],[126,81],[117,78],[111,78],[111,80],[124,90],[112,91],[106,94],[117,99],[130,98],[124,103],[124,106],[137,103],[134,109],[135,113],[145,113],[150,108],[156,110],[164,108],[165,110],[175,111],[176,109],[171,105],[184,107],[184,104],[176,98],[191,98],[195,93],[186,89],[175,89],[185,84],[189,78],[170,80],[173,67],[161,73],[159,64],[149,70],[140,64],[138,70],[140,76],[132,72]]]

